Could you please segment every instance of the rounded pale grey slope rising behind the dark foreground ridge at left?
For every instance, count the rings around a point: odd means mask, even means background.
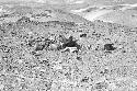
[[[31,4],[31,3],[28,3]],[[1,22],[16,21],[22,16],[27,16],[33,21],[71,21],[71,22],[87,22],[85,19],[80,15],[68,13],[60,9],[54,8],[49,4],[2,4],[3,11],[0,15]]]

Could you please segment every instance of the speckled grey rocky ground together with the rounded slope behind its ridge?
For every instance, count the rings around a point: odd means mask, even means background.
[[[0,19],[0,91],[137,90],[136,27],[49,7]]]

